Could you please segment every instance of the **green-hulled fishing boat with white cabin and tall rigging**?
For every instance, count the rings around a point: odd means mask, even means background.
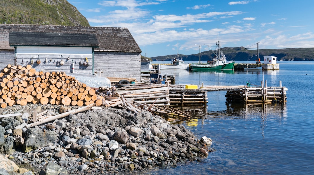
[[[202,63],[201,57],[200,57],[200,60],[198,63],[191,64],[191,70],[214,71],[214,70],[233,70],[234,69],[235,61],[226,60],[226,57],[222,53],[222,50],[221,50],[220,41],[216,42],[216,53],[214,52],[214,54],[215,54],[215,57],[213,58],[213,60],[207,61],[207,63]]]

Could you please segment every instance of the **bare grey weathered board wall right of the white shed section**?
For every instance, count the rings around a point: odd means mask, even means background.
[[[95,73],[100,77],[127,77],[141,81],[141,55],[138,52],[95,51]]]

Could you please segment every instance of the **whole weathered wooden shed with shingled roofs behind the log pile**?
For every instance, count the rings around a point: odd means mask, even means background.
[[[127,28],[0,24],[0,68],[30,64],[140,81],[141,52]]]

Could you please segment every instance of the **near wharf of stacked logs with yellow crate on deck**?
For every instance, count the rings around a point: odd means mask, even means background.
[[[197,88],[186,88],[186,85],[153,84],[153,85],[130,85],[120,87],[118,94],[123,95],[127,101],[135,103],[146,103],[154,106],[206,105],[207,93],[212,91],[226,91],[228,102],[239,103],[279,103],[286,102],[286,87],[267,87],[265,81],[259,87],[250,85],[240,86],[197,86]],[[194,85],[196,86],[196,85]]]

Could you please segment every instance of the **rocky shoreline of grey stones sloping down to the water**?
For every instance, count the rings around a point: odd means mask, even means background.
[[[197,138],[183,125],[173,125],[145,110],[134,114],[100,107],[26,128],[28,114],[34,110],[47,110],[49,116],[59,114],[61,107],[27,104],[1,109],[1,114],[23,116],[0,119],[0,156],[5,155],[0,158],[0,167],[4,167],[0,174],[142,172],[196,161],[213,151],[206,136]]]

